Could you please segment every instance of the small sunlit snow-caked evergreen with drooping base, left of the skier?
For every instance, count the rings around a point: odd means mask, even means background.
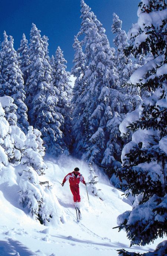
[[[40,185],[39,175],[46,171],[43,162],[43,142],[40,136],[41,133],[37,129],[29,126],[21,161],[23,173],[19,182],[21,188],[19,201],[24,208],[29,209],[31,217],[38,219],[41,224],[47,225],[52,221],[55,225],[57,219],[60,221],[62,213],[56,197],[53,200],[52,193],[49,193],[47,188],[44,190]]]

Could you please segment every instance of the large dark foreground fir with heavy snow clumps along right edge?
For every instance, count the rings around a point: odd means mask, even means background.
[[[139,4],[138,22],[128,33],[131,41],[127,54],[147,56],[151,51],[154,56],[130,78],[133,85],[147,89],[152,95],[144,98],[120,125],[123,135],[133,132],[132,140],[122,151],[120,175],[137,197],[132,211],[118,217],[119,229],[125,228],[131,245],[145,245],[167,234],[166,23],[167,4],[143,0]],[[164,243],[161,252],[165,248]],[[135,255],[125,250],[119,254]]]

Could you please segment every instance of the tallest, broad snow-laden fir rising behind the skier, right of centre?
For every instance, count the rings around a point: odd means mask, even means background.
[[[77,99],[78,117],[73,126],[77,135],[74,154],[96,164],[108,165],[120,160],[121,114],[114,67],[114,50],[109,47],[105,29],[89,6],[81,0],[81,30],[84,36],[86,72],[82,78],[83,93]]]

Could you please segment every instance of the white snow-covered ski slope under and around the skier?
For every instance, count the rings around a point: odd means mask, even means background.
[[[30,217],[29,212],[19,205],[20,166],[3,167],[0,172],[0,255],[116,256],[117,250],[122,248],[140,253],[153,251],[163,241],[158,239],[145,247],[129,248],[130,241],[125,231],[118,233],[118,229],[112,228],[117,226],[119,214],[131,210],[131,203],[98,170],[96,187],[101,189],[103,201],[89,193],[89,205],[86,187],[81,183],[82,220],[77,222],[69,183],[67,181],[63,187],[60,183],[75,167],[80,168],[88,182],[88,165],[71,157],[56,161],[49,156],[45,157],[45,164],[48,169],[40,180],[49,181],[49,186],[52,185],[49,193],[52,193],[53,200],[58,200],[61,216],[56,217],[57,225],[44,226]]]

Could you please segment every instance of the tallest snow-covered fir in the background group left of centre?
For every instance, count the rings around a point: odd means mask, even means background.
[[[27,105],[30,124],[40,130],[46,150],[55,155],[63,152],[62,115],[59,113],[58,97],[52,84],[51,66],[48,62],[48,38],[43,37],[35,24],[30,32],[30,65],[27,79]]]

